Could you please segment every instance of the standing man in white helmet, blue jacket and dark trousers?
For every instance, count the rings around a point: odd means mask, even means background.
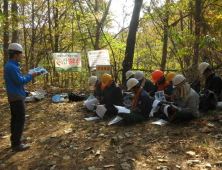
[[[5,66],[5,84],[11,110],[11,147],[12,151],[24,151],[30,148],[23,144],[25,138],[21,139],[25,124],[25,89],[24,84],[37,76],[37,72],[22,77],[19,70],[22,61],[22,46],[11,43],[8,47],[9,61]]]

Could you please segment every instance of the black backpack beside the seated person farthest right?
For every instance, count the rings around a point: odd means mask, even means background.
[[[217,106],[217,95],[210,90],[207,90],[201,98],[199,109],[213,110]]]

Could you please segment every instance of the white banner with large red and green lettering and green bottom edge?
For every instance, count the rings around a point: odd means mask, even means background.
[[[56,71],[82,72],[81,53],[53,53]]]

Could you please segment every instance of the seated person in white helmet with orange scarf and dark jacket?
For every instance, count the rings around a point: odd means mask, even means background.
[[[152,109],[152,101],[149,95],[135,78],[127,81],[127,88],[135,94],[133,105],[126,106],[132,108],[132,110],[130,113],[118,113],[118,116],[122,117],[127,124],[147,120]]]

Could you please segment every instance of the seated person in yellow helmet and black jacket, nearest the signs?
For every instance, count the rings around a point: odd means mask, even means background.
[[[98,105],[103,105],[107,109],[104,118],[110,118],[118,113],[114,105],[123,106],[122,91],[109,74],[103,74],[102,83],[105,86],[104,98]]]

